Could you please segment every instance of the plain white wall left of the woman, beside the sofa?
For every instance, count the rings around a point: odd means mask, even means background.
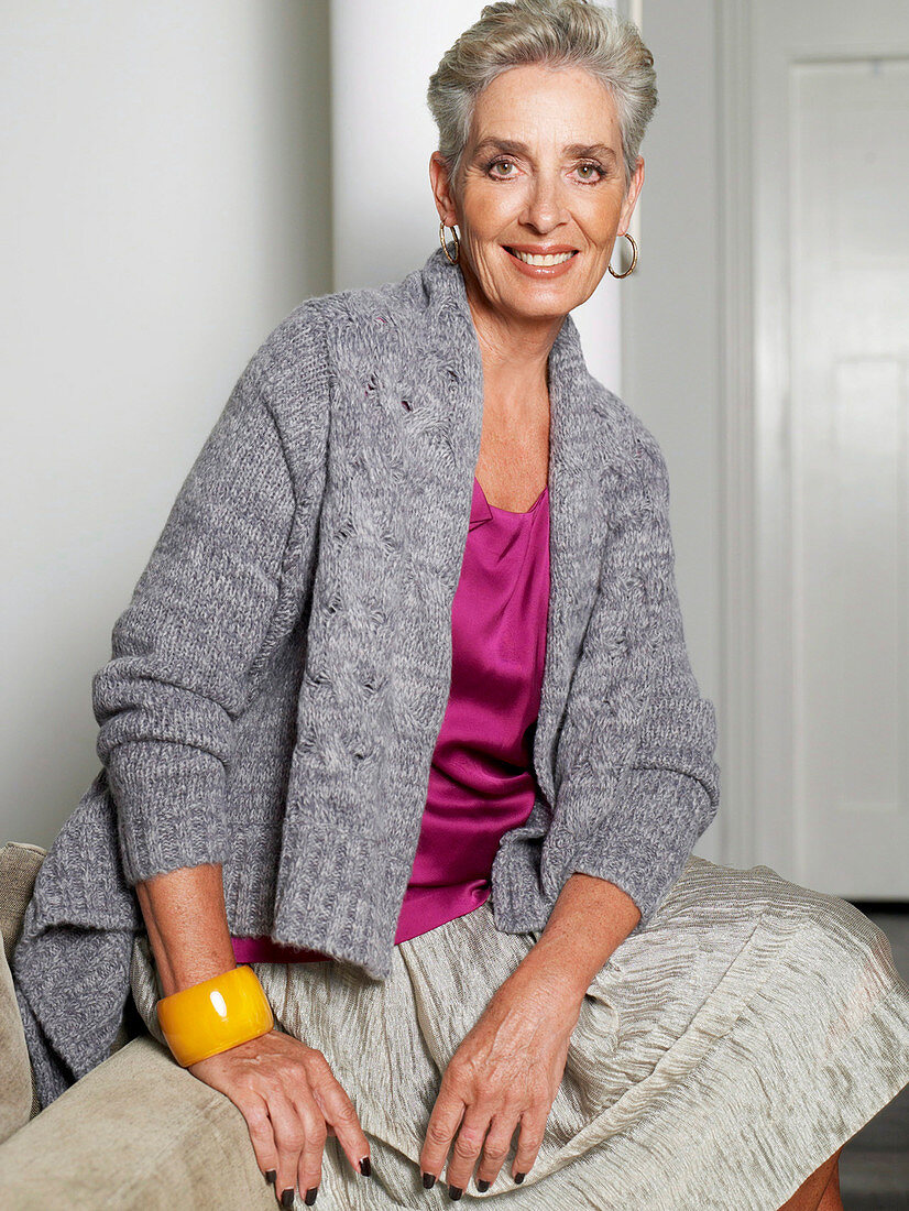
[[[98,770],[91,678],[246,361],[330,289],[323,0],[0,8],[0,842]]]

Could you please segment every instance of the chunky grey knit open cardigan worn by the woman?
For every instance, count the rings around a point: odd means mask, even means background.
[[[660,447],[548,361],[551,599],[541,792],[491,869],[495,928],[542,929],[575,871],[648,924],[719,804],[689,664]],[[102,769],[41,866],[13,954],[48,1104],[122,1021],[137,882],[224,866],[228,923],[391,970],[448,701],[451,599],[483,372],[437,248],[380,288],[300,303],[253,355],[92,683]]]

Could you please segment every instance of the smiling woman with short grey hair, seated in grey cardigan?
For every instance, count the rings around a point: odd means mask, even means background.
[[[271,334],[96,677],[104,774],[15,962],[42,1101],[109,1044],[115,998],[67,1015],[126,945],[283,1206],[832,1211],[909,987],[847,902],[691,854],[715,719],[666,466],[569,316],[652,58],[582,0],[494,4],[428,99],[442,248]]]

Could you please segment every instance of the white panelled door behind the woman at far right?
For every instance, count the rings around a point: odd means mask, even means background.
[[[909,896],[909,5],[748,5],[754,861]]]

